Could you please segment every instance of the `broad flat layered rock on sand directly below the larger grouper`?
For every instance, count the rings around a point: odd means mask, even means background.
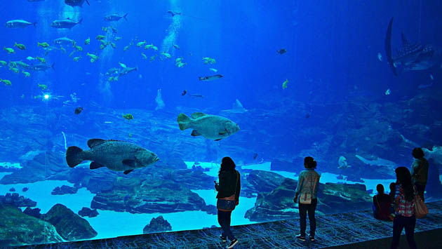
[[[170,179],[173,178],[170,175]],[[201,210],[205,206],[203,198],[190,191],[185,184],[135,177],[118,177],[112,190],[98,193],[91,203],[91,208],[129,213],[175,213]]]

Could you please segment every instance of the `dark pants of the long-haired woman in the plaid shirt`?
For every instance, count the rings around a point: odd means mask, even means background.
[[[393,249],[398,248],[399,239],[401,238],[402,229],[405,227],[406,229],[406,237],[408,241],[408,245],[411,249],[416,248],[415,242],[415,226],[416,226],[416,217],[413,215],[412,217],[405,217],[402,215],[396,215],[393,221],[393,241],[391,241],[391,247]]]

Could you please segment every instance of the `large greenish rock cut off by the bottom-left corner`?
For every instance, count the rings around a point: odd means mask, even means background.
[[[22,213],[18,208],[0,205],[0,217],[1,248],[63,242],[52,224]]]

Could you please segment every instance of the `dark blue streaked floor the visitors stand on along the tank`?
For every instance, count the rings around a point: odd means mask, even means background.
[[[417,220],[415,231],[442,228],[442,201],[427,204],[429,215]],[[316,241],[300,242],[299,220],[282,220],[261,224],[249,224],[233,228],[239,239],[235,248],[324,248],[377,238],[390,237],[392,222],[375,220],[371,211],[317,216]],[[307,232],[309,231],[307,222]],[[162,234],[143,234],[108,238],[96,241],[78,241],[29,248],[224,248],[218,236],[220,228],[194,231],[176,231]]]

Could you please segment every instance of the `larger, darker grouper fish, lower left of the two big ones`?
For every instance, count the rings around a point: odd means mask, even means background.
[[[109,170],[123,171],[125,175],[135,168],[143,168],[159,161],[154,152],[137,144],[118,140],[88,140],[89,150],[69,146],[66,150],[66,162],[74,168],[82,161],[92,161],[91,170],[107,167]]]

